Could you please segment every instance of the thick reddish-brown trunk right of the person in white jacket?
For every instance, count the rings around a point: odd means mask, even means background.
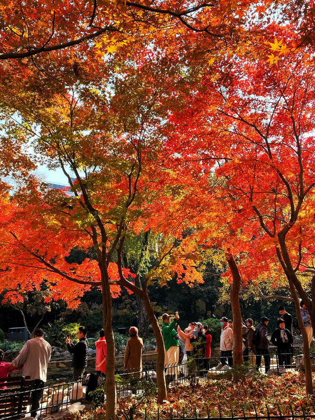
[[[232,286],[230,290],[230,301],[233,316],[233,362],[234,365],[243,363],[243,336],[242,336],[242,313],[240,307],[240,291],[242,278],[236,261],[232,254],[226,254],[225,258],[232,273]]]

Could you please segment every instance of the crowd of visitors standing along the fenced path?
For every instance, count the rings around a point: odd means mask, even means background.
[[[309,344],[313,338],[313,328],[310,315],[303,301],[300,303],[302,321],[307,331]],[[277,347],[278,364],[289,368],[291,356],[293,356],[293,333],[292,316],[288,314],[284,306],[279,307],[280,318],[277,321],[277,328],[272,332],[271,343]],[[127,373],[141,372],[142,370],[142,350],[143,341],[138,336],[139,315],[136,314],[133,325],[129,328],[130,338],[126,344],[124,355],[124,369]],[[181,329],[178,325],[179,315],[162,315],[162,337],[165,348],[165,367],[168,374],[177,379],[177,364],[179,362],[180,346],[182,347],[183,362],[191,355],[196,355],[200,359],[211,357],[212,333],[208,325],[200,322],[190,322],[188,326]],[[233,366],[233,323],[227,318],[221,320],[220,351],[221,357],[217,369],[225,369]],[[268,339],[269,319],[261,317],[260,323],[253,327],[253,320],[248,318],[242,325],[243,335],[243,357],[244,361],[255,360],[258,370],[261,358],[264,358],[265,371],[270,368],[269,339]],[[87,328],[78,328],[76,344],[71,342],[69,336],[65,339],[68,351],[72,354],[73,380],[82,379],[88,361],[88,342]],[[104,375],[106,372],[106,340],[104,330],[99,332],[99,339],[95,342],[96,360],[95,371]],[[44,332],[41,328],[36,328],[33,338],[28,340],[20,351],[19,355],[11,363],[4,362],[4,353],[0,350],[0,377],[5,378],[13,370],[23,369],[24,376],[30,376],[32,381],[31,393],[31,415],[35,417],[39,407],[40,398],[46,382],[47,367],[51,356],[51,346],[44,340]],[[207,368],[206,366],[203,366]],[[141,373],[138,374],[138,376]]]

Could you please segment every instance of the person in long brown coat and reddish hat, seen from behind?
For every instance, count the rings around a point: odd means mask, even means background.
[[[142,338],[138,336],[138,328],[135,326],[130,327],[129,329],[130,338],[127,341],[125,356],[124,356],[124,368],[128,373],[140,372],[134,375],[137,378],[142,376],[142,349],[143,341]]]

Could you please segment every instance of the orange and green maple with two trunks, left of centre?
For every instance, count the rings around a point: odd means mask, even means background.
[[[84,291],[101,288],[107,340],[106,416],[111,418],[116,410],[111,298],[121,287],[144,301],[159,350],[159,399],[166,396],[164,345],[147,285],[156,279],[163,283],[175,273],[178,281],[191,285],[196,279],[202,281],[194,261],[196,242],[182,237],[190,222],[189,217],[180,217],[185,214],[189,187],[185,184],[182,192],[173,193],[172,171],[158,159],[168,111],[162,106],[168,87],[158,83],[158,62],[152,67],[144,59],[113,61],[92,80],[76,82],[70,76],[63,83],[49,81],[45,95],[39,87],[47,80],[39,75],[29,79],[20,97],[12,98],[2,88],[3,102],[13,119],[19,113],[11,127],[24,129],[39,160],[63,169],[69,188],[51,190],[30,176],[29,183],[16,186],[14,194],[2,195],[0,287],[6,291],[5,299],[14,302],[45,282],[50,299],[63,297],[71,308]],[[161,237],[156,243],[157,263],[140,289],[124,268],[122,253],[126,237],[144,227]],[[66,257],[75,247],[94,247],[96,259],[68,263]],[[19,289],[12,287],[16,282]]]

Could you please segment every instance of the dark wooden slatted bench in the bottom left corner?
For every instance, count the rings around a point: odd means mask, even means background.
[[[0,378],[0,419],[18,419],[25,415],[32,381],[29,376]]]

